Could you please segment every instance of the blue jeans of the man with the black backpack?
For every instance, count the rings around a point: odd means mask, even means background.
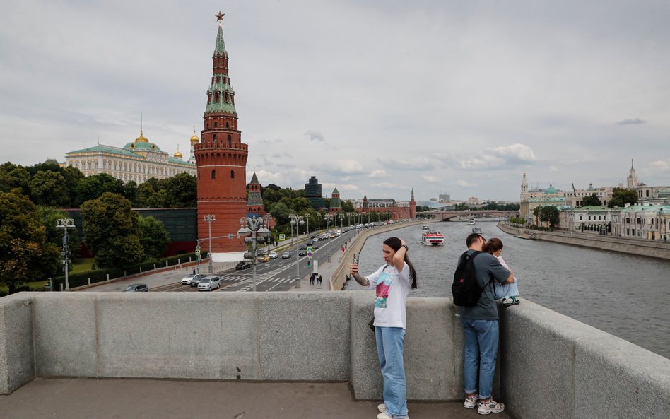
[[[461,318],[465,331],[464,381],[466,394],[478,393],[488,399],[493,389],[495,356],[498,355],[498,320]],[[477,391],[477,376],[479,391]]]

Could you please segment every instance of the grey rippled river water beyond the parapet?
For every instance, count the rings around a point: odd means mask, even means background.
[[[519,239],[495,222],[477,225],[487,239],[502,240],[502,258],[515,271],[522,298],[670,358],[670,261]],[[366,275],[384,264],[384,239],[402,237],[417,271],[418,288],[410,297],[451,297],[457,260],[473,226],[430,226],[445,235],[444,246],[421,244],[421,225],[375,235],[360,252],[360,272]],[[363,287],[348,281],[345,289]]]

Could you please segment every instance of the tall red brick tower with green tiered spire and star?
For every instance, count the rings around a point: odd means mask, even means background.
[[[209,223],[213,215],[213,254],[244,252],[244,237],[237,238],[240,218],[247,215],[247,144],[237,129],[235,91],[228,77],[228,52],[223,44],[223,14],[219,12],[213,74],[207,89],[207,106],[201,142],[194,146],[198,170],[198,238],[209,250]],[[216,257],[217,260],[235,258]]]

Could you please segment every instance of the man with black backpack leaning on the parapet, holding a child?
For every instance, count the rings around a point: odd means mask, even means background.
[[[498,258],[484,252],[486,240],[478,233],[469,235],[466,244],[468,250],[459,259],[452,285],[465,334],[463,406],[478,406],[478,413],[488,415],[505,409],[491,397],[499,337],[492,281],[512,283],[514,275]]]

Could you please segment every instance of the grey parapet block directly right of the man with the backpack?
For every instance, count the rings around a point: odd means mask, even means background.
[[[501,309],[500,401],[519,419],[575,418],[577,342],[608,336],[527,299]]]

